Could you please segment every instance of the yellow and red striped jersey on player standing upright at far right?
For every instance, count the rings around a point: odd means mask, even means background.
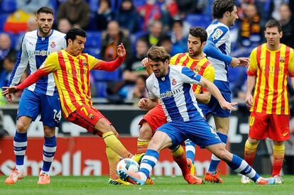
[[[249,76],[256,76],[254,104],[250,111],[268,114],[289,114],[288,75],[294,77],[294,51],[281,44],[268,50],[266,43],[252,50]]]

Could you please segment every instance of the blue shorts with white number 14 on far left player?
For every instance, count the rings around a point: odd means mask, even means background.
[[[17,118],[28,116],[35,121],[40,114],[44,126],[59,127],[61,119],[58,95],[47,96],[28,89],[23,90],[18,105]]]

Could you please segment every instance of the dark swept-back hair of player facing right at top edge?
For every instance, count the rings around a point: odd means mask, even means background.
[[[227,11],[232,12],[234,10],[234,0],[216,0],[212,4],[212,16],[213,18],[222,18]]]

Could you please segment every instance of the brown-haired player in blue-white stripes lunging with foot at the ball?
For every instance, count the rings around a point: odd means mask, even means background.
[[[148,50],[147,56],[154,73],[146,81],[149,98],[141,99],[138,106],[150,109],[158,104],[159,99],[167,115],[168,123],[160,126],[154,133],[141,161],[140,171],[135,173],[119,170],[120,177],[133,184],[145,184],[158,161],[160,150],[166,147],[176,147],[188,138],[200,147],[206,147],[214,155],[227,162],[227,165],[235,172],[245,174],[256,184],[274,184],[273,178],[263,179],[246,161],[225,149],[219,136],[209,126],[197,106],[191,84],[205,87],[223,109],[235,110],[236,103],[227,102],[212,82],[192,72],[189,68],[169,66],[170,56],[163,47],[153,45]]]

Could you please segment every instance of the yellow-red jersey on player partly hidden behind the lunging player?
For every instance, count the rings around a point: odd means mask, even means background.
[[[205,79],[208,79],[211,82],[214,81],[214,67],[210,64],[206,57],[203,57],[202,59],[193,59],[187,52],[178,53],[170,59],[170,65],[188,67],[195,73],[205,77]],[[207,91],[207,89],[197,84],[193,84],[192,89],[195,94],[200,94],[202,91]]]

